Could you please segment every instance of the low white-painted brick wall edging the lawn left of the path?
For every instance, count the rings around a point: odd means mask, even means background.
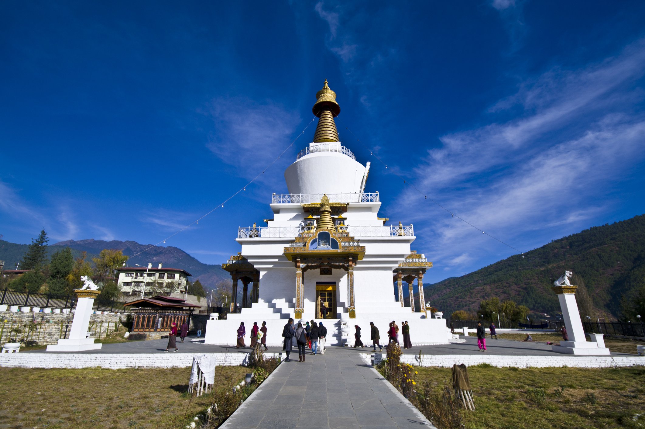
[[[146,353],[146,354],[106,354],[106,353],[3,353],[0,366],[7,368],[186,368],[192,366],[192,353]],[[211,355],[211,354],[209,354]],[[248,353],[213,353],[219,366],[246,364]],[[276,353],[266,353],[266,357],[277,357]]]

